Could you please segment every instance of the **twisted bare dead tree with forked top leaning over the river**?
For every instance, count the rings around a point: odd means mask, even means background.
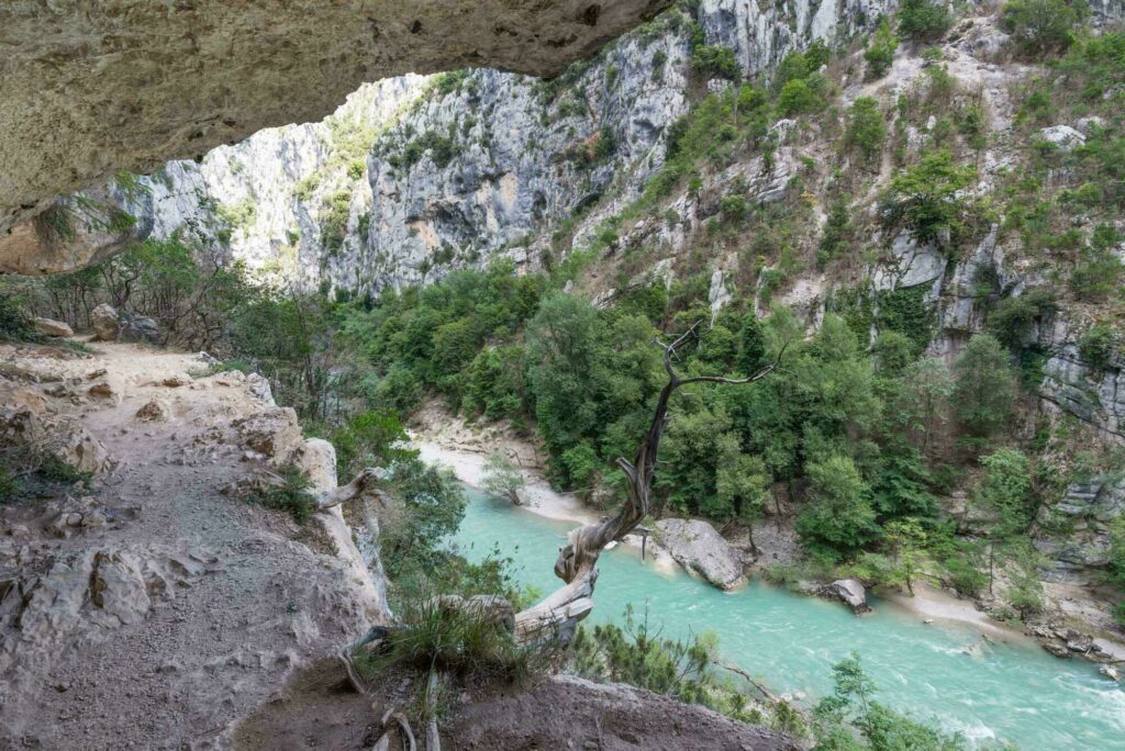
[[[566,583],[536,605],[516,614],[515,635],[520,642],[544,639],[567,642],[574,635],[578,622],[594,608],[596,564],[602,550],[611,542],[633,532],[652,509],[651,491],[656,459],[664,428],[668,423],[668,402],[676,389],[691,383],[752,383],[773,372],[784,354],[782,347],[773,363],[748,378],[720,376],[684,378],[676,372],[674,365],[674,361],[678,359],[677,350],[695,336],[702,323],[702,320],[695,322],[670,344],[665,344],[659,337],[656,338],[656,344],[664,350],[664,369],[668,373],[668,382],[660,390],[656,408],[652,410],[652,422],[637,449],[637,456],[631,462],[623,456],[618,459],[618,465],[624,472],[628,482],[626,501],[615,516],[570,532],[566,545],[559,551],[559,557],[555,561],[555,576]]]

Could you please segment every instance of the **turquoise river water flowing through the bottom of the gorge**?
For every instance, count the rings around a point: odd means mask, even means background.
[[[470,559],[494,546],[515,561],[519,579],[543,592],[566,533],[555,522],[468,489],[458,548]],[[880,700],[935,720],[966,739],[1005,739],[1020,749],[1125,750],[1125,690],[1095,666],[1063,661],[1027,643],[991,644],[969,626],[922,624],[888,603],[857,618],[839,604],[753,582],[723,592],[683,571],[641,562],[619,545],[598,562],[590,616],[620,621],[632,603],[667,636],[712,630],[723,655],[780,693],[803,693],[809,704],[830,689],[830,667],[852,650],[879,686]]]

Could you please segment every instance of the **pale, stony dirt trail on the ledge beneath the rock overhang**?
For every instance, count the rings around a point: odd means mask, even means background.
[[[382,614],[331,527],[223,495],[269,453],[316,453],[264,381],[94,346],[0,350],[6,409],[43,397],[44,419],[73,416],[114,462],[92,492],[0,506],[0,748],[225,748],[234,721]],[[272,422],[237,427],[254,415]]]

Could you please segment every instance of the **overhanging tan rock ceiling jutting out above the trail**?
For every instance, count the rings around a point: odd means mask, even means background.
[[[668,4],[4,3],[0,256],[8,233],[58,193],[199,157],[264,127],[318,120],[366,81],[486,66],[557,74]],[[16,234],[25,246],[34,239]]]

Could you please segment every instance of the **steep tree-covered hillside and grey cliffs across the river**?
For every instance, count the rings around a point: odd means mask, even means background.
[[[776,369],[685,392],[656,487],[669,513],[750,558],[776,552],[755,539],[773,523],[798,561],[781,581],[924,577],[1051,639],[1077,610],[1109,633],[1120,15],[702,0],[556,79],[372,84],[325,124],[119,179],[152,257],[206,248],[240,293],[231,259],[267,282],[251,304],[213,300],[209,279],[137,307],[172,338],[202,308],[207,345],[352,459],[438,393],[533,434],[556,485],[606,505],[666,378],[654,336],[695,332],[684,372]],[[128,297],[138,257],[28,297],[82,326],[99,295]]]

